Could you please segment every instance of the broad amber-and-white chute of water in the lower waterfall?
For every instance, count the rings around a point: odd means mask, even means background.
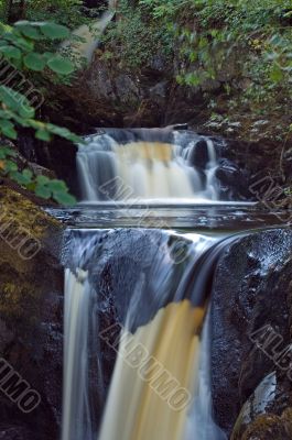
[[[203,317],[188,300],[172,302],[121,333],[99,440],[183,439]]]

